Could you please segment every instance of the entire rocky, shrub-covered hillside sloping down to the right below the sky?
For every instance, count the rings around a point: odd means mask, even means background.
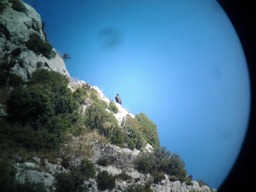
[[[72,81],[32,7],[1,0],[0,18],[0,191],[216,191],[146,114]]]

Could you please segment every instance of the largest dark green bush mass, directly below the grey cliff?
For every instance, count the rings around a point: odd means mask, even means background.
[[[26,87],[13,89],[6,102],[7,120],[11,124],[15,122],[21,124],[23,129],[26,126],[26,129],[33,128],[32,132],[29,132],[31,135],[28,139],[24,138],[23,133],[20,134],[21,127],[15,129],[17,132],[13,133],[14,139],[17,136],[15,142],[36,150],[40,147],[50,149],[62,143],[66,133],[71,130],[82,132],[76,127],[84,124],[84,119],[78,112],[80,106],[67,85],[68,79],[65,76],[42,69],[32,74]],[[49,144],[41,141],[44,137]],[[31,146],[29,142],[33,145]]]

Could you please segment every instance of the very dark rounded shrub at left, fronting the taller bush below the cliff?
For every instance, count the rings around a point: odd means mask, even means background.
[[[15,88],[7,101],[9,121],[31,124],[36,128],[44,116],[54,114],[52,96],[51,87],[47,84]]]

